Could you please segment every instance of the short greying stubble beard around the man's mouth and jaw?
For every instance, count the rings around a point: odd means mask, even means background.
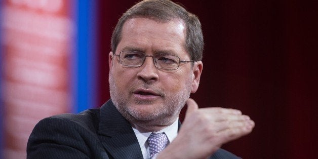
[[[151,88],[150,85],[145,83],[141,84],[143,88]],[[136,87],[136,86],[135,86]],[[160,89],[157,89],[157,92],[160,92],[162,98],[165,98],[166,103],[158,105],[156,108],[151,111],[142,112],[138,109],[135,109],[131,106],[131,103],[128,102],[127,97],[124,94],[130,94],[134,90],[134,86],[131,88],[126,88],[126,90],[118,90],[116,82],[111,73],[109,73],[109,90],[110,98],[114,103],[116,109],[132,124],[138,125],[140,127],[151,130],[152,127],[163,127],[169,126],[175,122],[176,118],[179,116],[179,113],[183,106],[185,105],[186,100],[190,96],[191,92],[191,83],[190,79],[187,82],[187,85],[182,87],[182,90],[178,94],[173,94],[172,92],[165,92]],[[135,101],[137,104],[153,104],[152,101],[142,100]]]

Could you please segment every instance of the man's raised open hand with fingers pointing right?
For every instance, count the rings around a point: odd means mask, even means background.
[[[222,144],[251,133],[253,128],[254,122],[240,110],[199,109],[193,99],[188,99],[178,136],[157,158],[207,158]]]

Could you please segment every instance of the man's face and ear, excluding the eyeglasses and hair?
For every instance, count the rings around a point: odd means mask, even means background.
[[[148,18],[125,22],[116,55],[123,50],[145,55],[167,53],[191,60],[185,50],[185,27],[181,20],[166,23]],[[111,99],[121,114],[134,126],[145,131],[171,125],[178,117],[190,93],[197,89],[202,62],[180,63],[177,70],[156,68],[146,57],[137,68],[122,65],[109,53]]]

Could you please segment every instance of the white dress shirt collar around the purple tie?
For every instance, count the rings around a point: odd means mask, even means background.
[[[178,134],[178,121],[179,118],[177,118],[177,120],[170,126],[160,130],[160,131],[156,131],[156,132],[147,132],[147,133],[141,133],[139,132],[137,129],[133,128],[136,137],[138,139],[139,142],[139,146],[141,148],[141,152],[143,155],[143,158],[148,159],[150,158],[150,152],[149,152],[149,147],[148,147],[148,143],[147,143],[147,139],[150,136],[151,133],[165,133],[168,137],[168,144],[171,143],[173,141],[173,139],[175,139],[177,137]],[[168,145],[167,144],[167,145]]]

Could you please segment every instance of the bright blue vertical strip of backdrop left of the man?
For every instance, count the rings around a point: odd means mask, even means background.
[[[77,1],[74,112],[97,107],[97,1]]]

